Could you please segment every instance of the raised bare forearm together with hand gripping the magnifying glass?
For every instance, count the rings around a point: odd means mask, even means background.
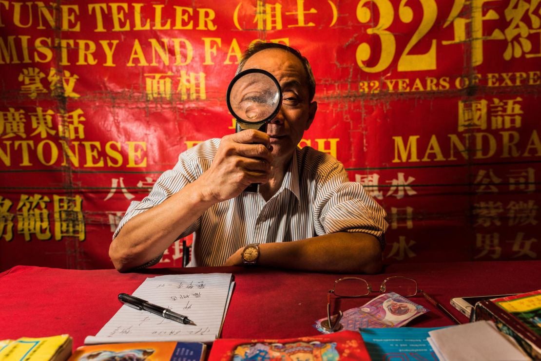
[[[242,131],[221,139],[212,164],[198,177],[197,171],[190,173],[190,167],[179,165],[188,178],[197,179],[124,224],[109,247],[115,268],[127,271],[160,256],[210,206],[236,197],[250,183],[268,182],[272,160],[268,146],[265,133]],[[207,155],[203,151],[199,156]],[[177,182],[182,177],[168,179]]]

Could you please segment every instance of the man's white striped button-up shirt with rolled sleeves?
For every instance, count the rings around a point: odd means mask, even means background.
[[[209,139],[183,152],[149,196],[131,202],[113,238],[129,219],[194,182],[210,167],[219,145],[220,139]],[[250,243],[289,242],[341,231],[373,235],[383,249],[385,216],[360,183],[348,181],[342,163],[305,146],[296,149],[280,189],[267,202],[259,193],[243,192],[211,206],[179,238],[195,232],[190,266],[222,265]]]

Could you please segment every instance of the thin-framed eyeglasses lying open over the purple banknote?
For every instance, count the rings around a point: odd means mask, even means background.
[[[445,309],[445,307],[443,307],[441,304],[439,304],[438,302],[436,302],[436,300],[434,298],[432,298],[430,295],[428,295],[428,293],[426,293],[425,291],[423,290],[420,290],[417,286],[417,281],[414,280],[413,278],[410,278],[410,277],[405,277],[405,276],[391,276],[391,277],[387,277],[383,280],[383,282],[381,282],[380,286],[379,286],[379,292],[380,293],[385,293],[386,292],[386,288],[385,288],[385,284],[387,283],[388,280],[390,279],[394,279],[394,278],[403,278],[403,279],[407,279],[407,280],[411,280],[414,282],[415,284],[415,293],[413,293],[412,295],[401,295],[403,297],[413,297],[413,296],[416,296],[418,293],[421,293],[423,295],[424,298],[426,298],[428,300],[428,302],[430,302],[431,304],[433,304],[434,306],[438,307],[441,311],[443,311],[445,313],[445,315],[450,318],[454,323],[456,324],[461,324],[459,322],[459,320],[457,320],[453,315],[451,315],[451,313],[449,311],[447,311]],[[343,280],[346,280],[346,279],[360,279],[362,281],[364,281],[366,283],[366,290],[367,292],[362,294],[362,295],[355,295],[355,296],[340,296],[340,295],[337,295],[335,293],[335,288],[336,288],[336,285],[343,281]],[[334,281],[334,285],[333,285],[333,288],[331,290],[328,290],[327,291],[327,322],[329,324],[329,328],[328,328],[328,331],[334,331],[336,328],[337,328],[337,325],[338,323],[340,322],[340,318],[342,317],[342,312],[339,311],[339,315],[338,317],[335,318],[334,322],[332,323],[332,319],[331,319],[331,293],[336,296],[336,297],[340,297],[340,298],[358,298],[358,297],[364,297],[364,296],[368,296],[370,295],[370,293],[372,292],[377,292],[377,291],[373,291],[372,290],[372,286],[370,285],[370,283],[367,282],[366,279],[364,278],[360,278],[360,277],[342,277],[342,278],[339,278],[337,280]],[[327,328],[327,327],[324,327],[324,328]]]

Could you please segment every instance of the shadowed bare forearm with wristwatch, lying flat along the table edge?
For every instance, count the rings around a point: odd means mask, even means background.
[[[242,263],[240,251],[230,258],[232,262]],[[377,273],[381,270],[381,248],[378,239],[366,233],[337,232],[295,242],[261,244],[258,264],[318,272]]]

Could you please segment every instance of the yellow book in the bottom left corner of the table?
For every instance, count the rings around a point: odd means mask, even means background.
[[[65,361],[71,355],[73,340],[69,335],[21,337],[0,341],[2,361]]]

